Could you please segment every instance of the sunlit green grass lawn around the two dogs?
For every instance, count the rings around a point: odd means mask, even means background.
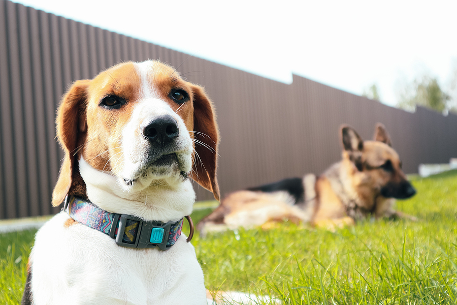
[[[284,304],[456,304],[457,171],[415,178],[397,208],[419,221],[365,221],[329,232],[282,224],[194,236],[207,288]],[[197,210],[197,223],[211,209]],[[36,231],[0,235],[0,304],[19,304]]]

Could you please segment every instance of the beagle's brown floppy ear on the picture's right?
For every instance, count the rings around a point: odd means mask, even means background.
[[[219,186],[216,177],[219,131],[216,113],[202,87],[192,85],[192,93],[193,136],[195,139],[192,179],[213,192],[214,198],[219,200]]]

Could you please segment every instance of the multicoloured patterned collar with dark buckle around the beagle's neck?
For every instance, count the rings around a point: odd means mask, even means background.
[[[129,248],[155,248],[168,250],[181,235],[183,218],[177,222],[162,223],[145,221],[127,214],[110,213],[80,197],[67,195],[63,201],[63,209],[77,222],[101,231],[116,241],[116,244]],[[187,242],[193,236],[193,224],[190,216],[186,216],[190,226]],[[122,232],[123,234],[118,234]]]

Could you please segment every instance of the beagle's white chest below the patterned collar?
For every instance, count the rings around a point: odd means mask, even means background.
[[[181,236],[168,251],[117,246],[61,212],[37,233],[32,292],[40,304],[203,304],[203,272]]]

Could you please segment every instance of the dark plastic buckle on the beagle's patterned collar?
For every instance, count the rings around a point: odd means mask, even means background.
[[[114,235],[116,232],[117,220],[119,220],[119,227],[117,228],[117,235],[115,237]],[[127,220],[133,220],[133,221],[139,222],[138,231],[137,231],[134,243],[127,243],[127,242],[122,241],[122,238],[124,236],[125,226],[127,225]],[[168,242],[168,236],[170,233],[170,227],[174,224],[175,224],[174,222],[168,222],[168,223],[164,224],[160,221],[144,221],[141,218],[138,218],[138,217],[135,217],[132,215],[116,214],[113,219],[113,224],[110,229],[110,237],[114,238],[116,240],[116,244],[118,246],[122,246],[122,247],[139,248],[139,249],[158,247],[161,250],[168,250],[169,248],[167,248],[167,242]],[[164,235],[162,236],[162,241],[160,243],[153,243],[150,241],[151,232],[152,232],[153,228],[164,229]]]

